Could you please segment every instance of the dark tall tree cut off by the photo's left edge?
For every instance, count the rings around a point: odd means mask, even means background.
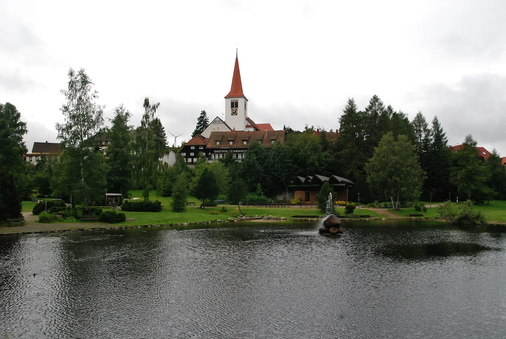
[[[0,104],[0,221],[21,216],[27,152],[23,135],[26,123],[20,121],[16,106]]]

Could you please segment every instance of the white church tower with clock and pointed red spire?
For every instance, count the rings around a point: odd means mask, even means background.
[[[225,122],[231,129],[236,131],[246,130],[247,102],[248,99],[242,93],[241,73],[236,50],[232,86],[230,92],[225,96]]]

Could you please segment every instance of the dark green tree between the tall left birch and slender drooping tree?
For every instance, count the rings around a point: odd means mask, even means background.
[[[107,132],[111,144],[107,147],[107,189],[109,193],[121,193],[129,197],[132,180],[132,134],[129,125],[132,114],[120,105],[114,108],[112,127]]]

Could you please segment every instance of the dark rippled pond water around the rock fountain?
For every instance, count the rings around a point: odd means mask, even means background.
[[[506,337],[504,229],[237,224],[2,237],[0,334]]]

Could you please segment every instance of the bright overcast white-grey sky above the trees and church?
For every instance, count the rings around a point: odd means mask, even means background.
[[[82,67],[106,118],[123,103],[138,125],[148,96],[180,143],[200,110],[221,117],[238,48],[256,123],[335,130],[349,97],[363,109],[377,94],[410,120],[438,116],[451,145],[472,133],[506,156],[504,18],[506,2],[483,0],[2,0],[0,102],[27,122],[29,151],[57,142],[60,90]]]

